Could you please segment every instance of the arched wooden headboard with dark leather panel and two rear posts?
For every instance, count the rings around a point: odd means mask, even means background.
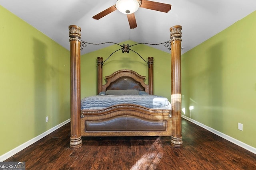
[[[102,57],[98,57],[98,94],[106,90],[136,89],[153,94],[153,57],[148,57],[148,84],[145,76],[132,70],[118,70],[106,76],[106,84],[102,85]]]

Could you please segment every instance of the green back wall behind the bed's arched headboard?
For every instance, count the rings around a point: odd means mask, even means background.
[[[166,37],[168,39],[169,37]],[[81,38],[83,39],[83,38]],[[134,41],[125,41],[119,43],[134,45]],[[88,44],[86,48],[90,48]],[[119,45],[111,45],[81,56],[81,98],[96,95],[97,93],[97,57],[103,57],[105,61],[114,51],[120,49]],[[147,45],[134,45],[130,49],[136,51],[145,61],[148,57],[154,57],[154,94],[165,96],[171,99],[171,55]],[[146,76],[146,84],[148,84],[148,64],[143,61],[140,56],[130,51],[130,53],[122,53],[117,51],[103,64],[103,84],[105,76],[121,69],[130,69],[138,72],[142,76]]]

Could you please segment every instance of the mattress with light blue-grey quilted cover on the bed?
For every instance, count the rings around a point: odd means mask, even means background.
[[[116,104],[136,104],[151,109],[171,109],[168,99],[157,95],[90,96],[81,100],[81,109],[103,109]]]

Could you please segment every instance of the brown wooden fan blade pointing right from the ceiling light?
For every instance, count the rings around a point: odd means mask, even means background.
[[[142,0],[140,5],[141,8],[146,8],[146,9],[166,12],[166,13],[171,10],[171,6],[172,5],[170,4],[163,4],[160,2],[153,2],[149,0]]]

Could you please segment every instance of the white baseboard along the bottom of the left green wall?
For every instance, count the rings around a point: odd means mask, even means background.
[[[20,152],[21,150],[25,149],[26,147],[32,145],[33,143],[39,141],[40,139],[42,139],[43,137],[45,137],[46,135],[49,135],[50,133],[52,133],[53,131],[59,129],[60,127],[62,127],[63,125],[66,125],[68,122],[70,122],[70,119],[60,123],[59,125],[56,125],[55,127],[49,129],[48,131],[42,133],[41,135],[38,135],[37,137],[34,137],[33,139],[23,143],[22,145],[10,150],[9,152],[3,154],[0,156],[0,162],[3,162],[4,160],[10,158],[11,156],[13,156],[14,154]]]

